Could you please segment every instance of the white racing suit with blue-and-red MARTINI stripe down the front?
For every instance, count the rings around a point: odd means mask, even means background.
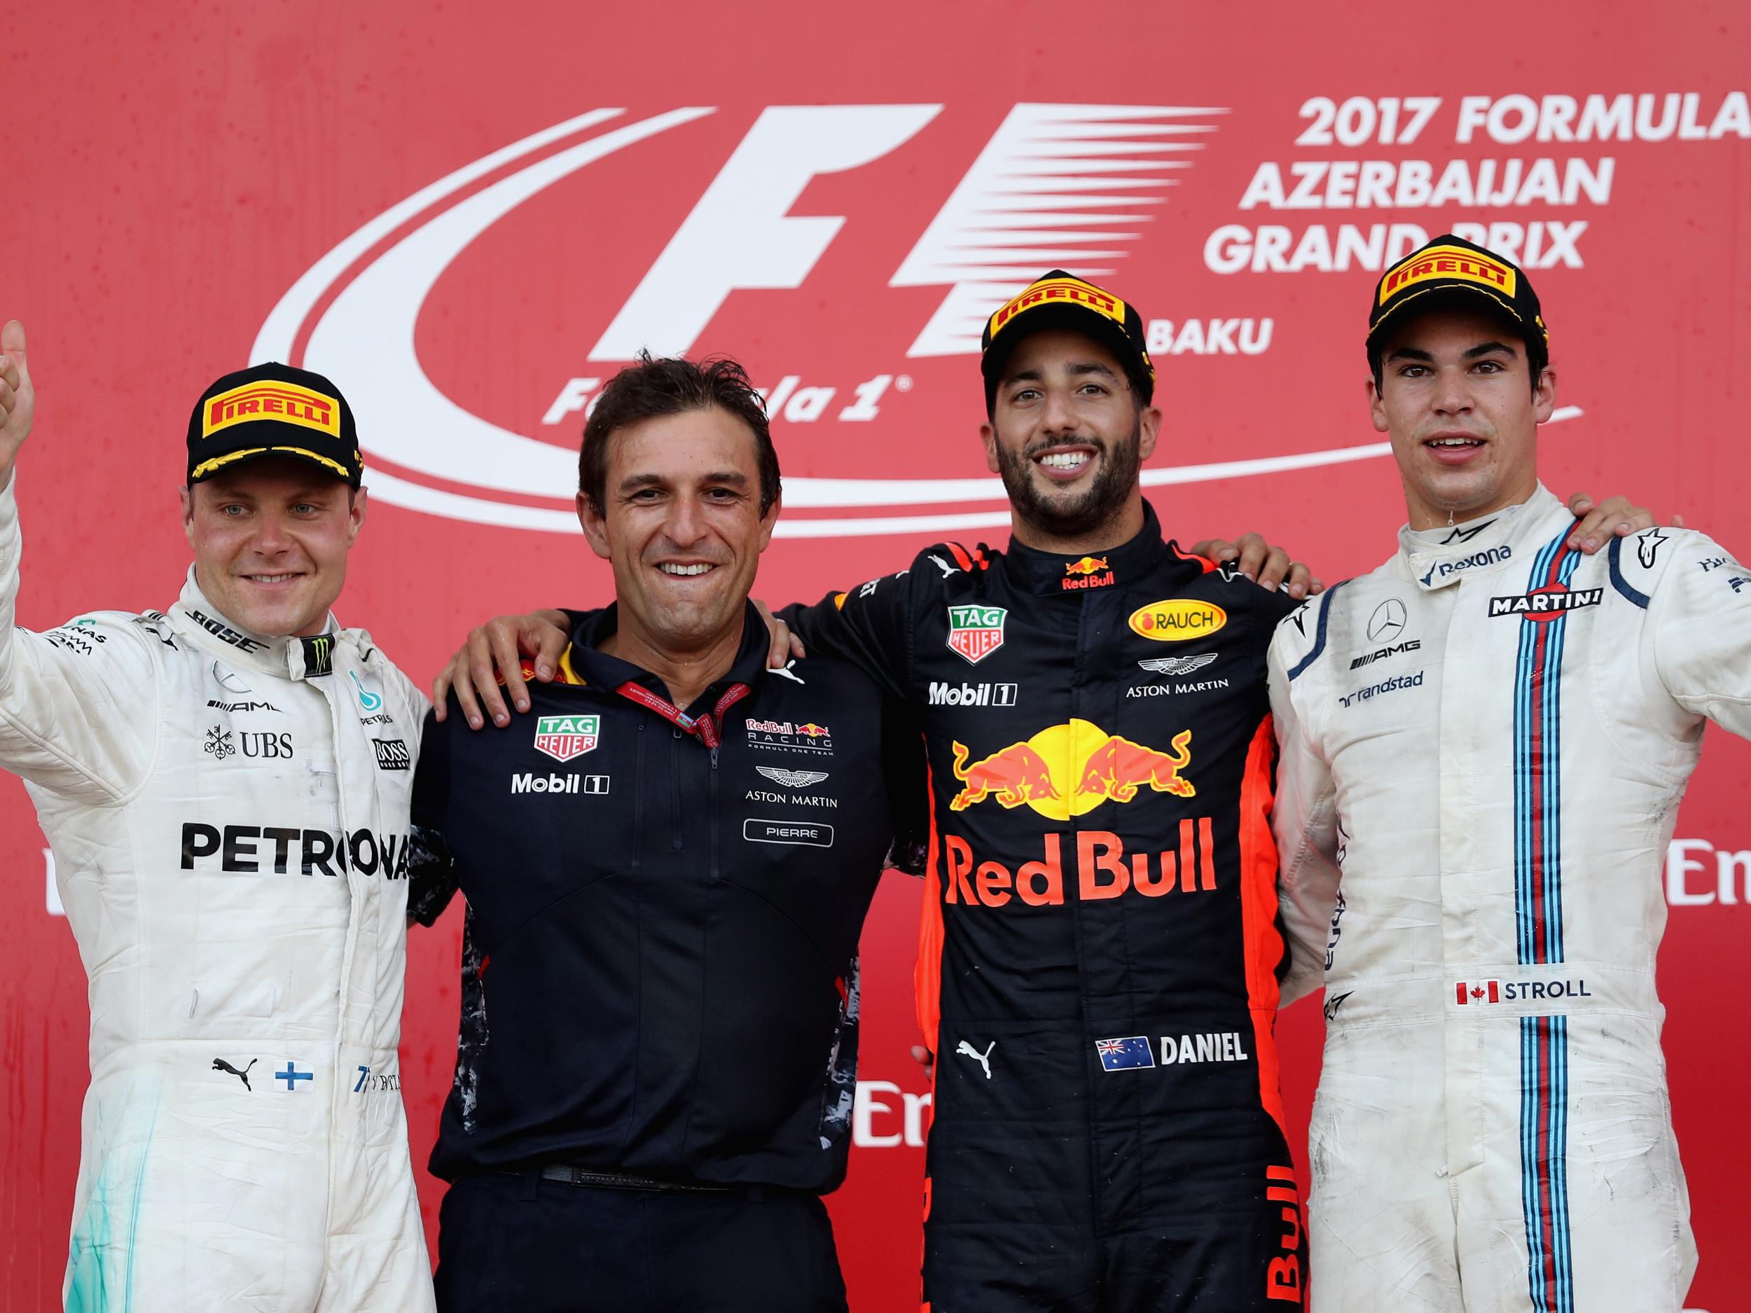
[[[1695,1271],[1660,874],[1704,720],[1751,734],[1751,571],[1572,527],[1539,488],[1404,530],[1271,646],[1320,1313],[1670,1313]]]

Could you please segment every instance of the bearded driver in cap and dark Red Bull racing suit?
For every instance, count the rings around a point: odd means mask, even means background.
[[[1264,683],[1294,602],[1163,541],[1136,310],[1047,275],[984,369],[1009,550],[781,613],[928,741],[926,1306],[1297,1308]]]

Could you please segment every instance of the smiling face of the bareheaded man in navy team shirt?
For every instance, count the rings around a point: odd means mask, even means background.
[[[760,513],[753,431],[707,406],[629,424],[609,445],[604,506],[578,494],[578,520],[615,567],[622,634],[671,653],[739,634],[779,513]]]

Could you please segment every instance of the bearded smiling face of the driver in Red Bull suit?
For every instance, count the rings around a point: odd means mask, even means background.
[[[1161,411],[1138,408],[1105,345],[1047,329],[1016,345],[979,436],[986,464],[1003,476],[1016,536],[1077,551],[1089,539],[1115,546],[1142,527],[1136,471],[1159,427]]]

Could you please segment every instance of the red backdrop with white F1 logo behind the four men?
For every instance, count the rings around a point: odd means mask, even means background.
[[[1544,478],[1628,490],[1744,557],[1751,18],[1737,0],[863,11],[403,0],[63,0],[0,30],[0,317],[32,333],[19,620],[163,606],[180,432],[217,373],[306,362],[352,397],[373,515],[341,600],[417,678],[476,618],[606,595],[569,518],[583,406],[632,348],[732,352],[774,389],[784,537],[818,595],[946,532],[1003,537],[972,350],[1033,273],[1150,319],[1145,480],[1191,541],[1264,529],[1326,579],[1401,518],[1362,406],[1382,261],[1446,229],[1534,271],[1560,371]],[[1466,229],[1460,224],[1473,224]],[[592,382],[595,380],[595,382]],[[1751,749],[1711,732],[1667,867],[1672,1099],[1702,1269],[1735,1308],[1751,1038]],[[0,779],[0,1309],[54,1302],[86,1084],[84,979],[25,791]],[[853,1308],[916,1297],[918,886],[865,935]],[[410,944],[422,1162],[450,1084],[459,919]],[[564,1017],[555,1017],[564,1024]],[[1319,1012],[1282,1022],[1304,1120]],[[440,1185],[424,1178],[427,1220]]]

